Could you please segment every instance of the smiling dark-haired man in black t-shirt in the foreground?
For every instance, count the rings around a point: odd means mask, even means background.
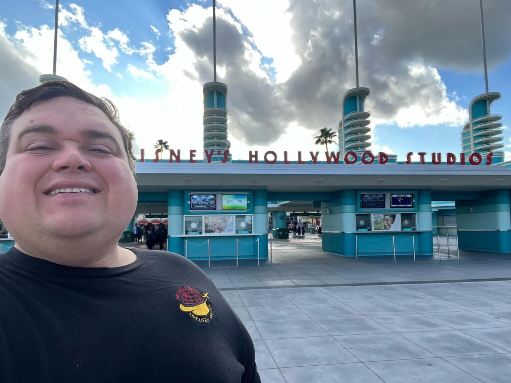
[[[125,249],[135,158],[115,107],[68,82],[0,130],[0,381],[259,382],[246,329],[183,257]]]

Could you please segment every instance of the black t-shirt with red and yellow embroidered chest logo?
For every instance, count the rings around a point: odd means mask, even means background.
[[[260,382],[252,341],[192,262],[118,268],[0,256],[0,382]]]

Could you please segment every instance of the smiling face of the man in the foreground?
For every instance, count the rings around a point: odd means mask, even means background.
[[[137,189],[118,128],[99,108],[59,97],[13,123],[0,196],[0,218],[17,242],[32,244],[119,237]]]

